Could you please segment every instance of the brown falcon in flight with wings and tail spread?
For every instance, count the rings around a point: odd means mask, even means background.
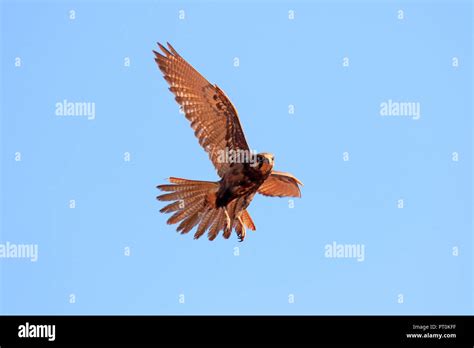
[[[155,61],[170,85],[169,90],[191,122],[199,144],[208,153],[219,181],[170,177],[158,185],[165,193],[159,201],[171,201],[160,210],[172,213],[168,224],[180,223],[177,231],[188,233],[197,226],[194,238],[204,233],[214,240],[220,231],[229,238],[235,230],[240,241],[246,228],[255,231],[247,208],[256,193],[272,197],[301,197],[296,177],[273,170],[270,153],[252,155],[237,110],[217,85],[209,83],[168,43],[153,51]]]

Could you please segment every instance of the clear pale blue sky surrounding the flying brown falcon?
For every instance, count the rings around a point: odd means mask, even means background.
[[[473,313],[470,1],[0,10],[0,244],[39,250],[0,258],[0,313]],[[256,197],[244,243],[193,240],[159,213],[166,177],[217,175],[156,41],[226,91],[251,147],[304,183],[293,208]],[[57,116],[64,99],[95,103],[95,119]],[[417,103],[420,118],[381,116],[389,100]],[[364,260],[325,257],[333,242],[363,246]]]

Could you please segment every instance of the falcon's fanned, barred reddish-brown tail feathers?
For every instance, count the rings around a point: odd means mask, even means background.
[[[195,239],[209,230],[209,240],[214,240],[221,230],[224,230],[224,238],[229,238],[232,229],[235,229],[242,240],[245,237],[245,227],[255,230],[255,225],[247,210],[239,213],[239,209],[235,209],[238,202],[229,204],[227,214],[231,221],[231,228],[226,228],[226,211],[224,208],[216,208],[215,205],[216,193],[219,189],[218,182],[180,178],[169,178],[169,181],[171,184],[157,186],[161,191],[168,193],[156,198],[159,201],[174,201],[162,208],[160,212],[174,212],[167,222],[175,224],[181,221],[176,229],[178,232],[188,233],[193,227],[198,226],[194,234]]]

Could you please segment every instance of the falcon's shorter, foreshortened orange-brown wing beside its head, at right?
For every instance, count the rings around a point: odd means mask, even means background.
[[[259,187],[258,193],[272,197],[301,197],[298,185],[303,183],[290,173],[274,170]]]

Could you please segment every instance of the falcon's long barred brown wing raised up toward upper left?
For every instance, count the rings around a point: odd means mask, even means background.
[[[164,55],[153,51],[155,61],[191,121],[199,144],[222,177],[229,166],[222,161],[222,151],[249,150],[237,110],[217,85],[210,84],[169,43],[168,49],[160,43],[158,46]]]

